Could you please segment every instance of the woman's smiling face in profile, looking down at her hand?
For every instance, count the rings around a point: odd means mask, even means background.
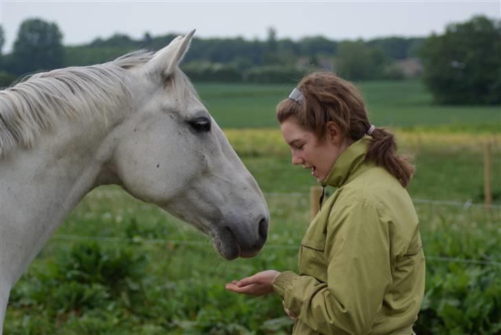
[[[292,151],[292,164],[302,164],[311,170],[311,175],[319,182],[328,177],[334,162],[347,147],[334,122],[328,122],[326,138],[319,141],[314,133],[299,127],[295,118],[289,118],[280,125],[284,140]]]

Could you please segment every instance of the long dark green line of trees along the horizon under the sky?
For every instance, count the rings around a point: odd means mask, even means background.
[[[500,21],[473,17],[454,23],[443,35],[387,37],[370,41],[331,41],[310,36],[277,39],[273,28],[264,41],[194,38],[182,69],[194,81],[285,83],[306,72],[328,70],[349,80],[421,76],[437,102],[500,103]],[[63,46],[55,23],[21,23],[10,54],[0,58],[0,86],[30,72],[111,61],[133,50],[160,50],[178,34],[131,39],[114,34],[85,45]],[[4,44],[0,26],[0,52]]]

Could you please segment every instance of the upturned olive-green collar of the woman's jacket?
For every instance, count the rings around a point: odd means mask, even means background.
[[[341,187],[372,166],[372,163],[363,164],[370,140],[370,136],[364,136],[350,144],[334,162],[326,180],[321,183],[322,186]]]

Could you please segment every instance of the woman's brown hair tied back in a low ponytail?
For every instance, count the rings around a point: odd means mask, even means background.
[[[295,118],[298,125],[315,134],[318,140],[326,138],[327,122],[333,121],[341,135],[360,140],[371,124],[362,95],[352,83],[330,72],[315,72],[305,76],[297,88],[303,94],[301,104],[287,98],[277,105],[280,123]],[[403,187],[407,187],[414,173],[410,156],[397,155],[394,135],[384,128],[375,128],[365,155],[376,165],[383,166]]]

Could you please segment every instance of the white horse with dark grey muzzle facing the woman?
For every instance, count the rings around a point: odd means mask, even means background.
[[[262,192],[178,67],[193,32],[156,54],[56,69],[0,91],[1,323],[12,285],[103,184],[189,222],[226,259],[264,245]]]

